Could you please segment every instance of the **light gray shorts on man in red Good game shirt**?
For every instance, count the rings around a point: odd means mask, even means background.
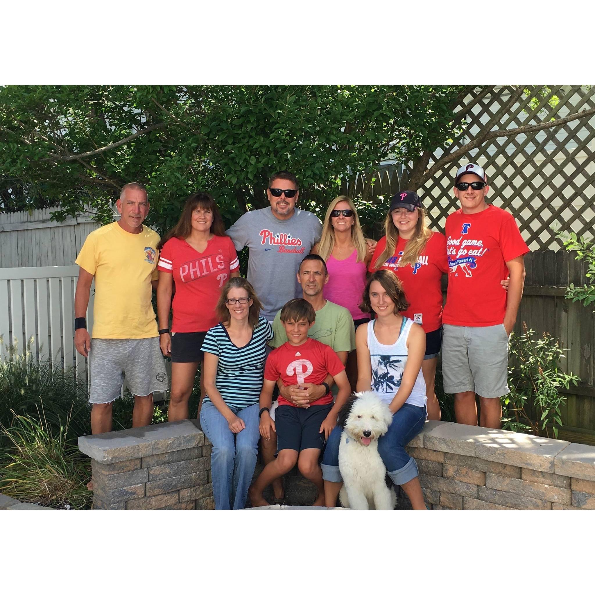
[[[444,324],[442,380],[445,393],[473,390],[496,399],[508,394],[508,334],[503,324],[456,327]]]

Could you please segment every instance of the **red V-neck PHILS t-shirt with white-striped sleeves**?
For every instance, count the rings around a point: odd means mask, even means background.
[[[233,242],[227,236],[213,236],[204,252],[172,237],[159,253],[157,268],[172,273],[176,283],[171,331],[199,333],[218,324],[215,306],[221,288],[230,274],[239,270],[240,262]]]

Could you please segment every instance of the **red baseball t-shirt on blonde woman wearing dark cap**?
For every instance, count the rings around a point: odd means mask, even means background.
[[[409,308],[401,314],[419,324],[426,333],[431,333],[442,325],[441,277],[443,273],[448,273],[446,237],[439,231],[434,231],[415,265],[403,267],[399,265],[399,261],[407,242],[408,240],[399,237],[394,254],[383,264],[377,265],[376,260],[386,247],[386,236],[381,237],[368,270],[370,273],[381,269],[393,271],[403,284],[405,297],[409,302]]]

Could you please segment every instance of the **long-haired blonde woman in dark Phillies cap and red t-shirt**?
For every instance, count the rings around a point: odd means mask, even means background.
[[[394,195],[384,220],[380,239],[368,270],[396,273],[407,301],[401,314],[411,318],[425,331],[426,349],[421,371],[427,391],[428,419],[440,419],[440,405],[434,393],[437,357],[442,345],[443,273],[448,273],[446,237],[428,227],[424,208],[415,192]]]

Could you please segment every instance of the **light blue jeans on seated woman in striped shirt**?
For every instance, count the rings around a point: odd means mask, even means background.
[[[244,409],[231,405],[229,408],[246,424],[238,434],[229,429],[226,418],[210,401],[203,402],[201,408],[201,428],[213,444],[211,477],[215,509],[226,511],[242,509],[246,505],[260,438],[258,403]]]

